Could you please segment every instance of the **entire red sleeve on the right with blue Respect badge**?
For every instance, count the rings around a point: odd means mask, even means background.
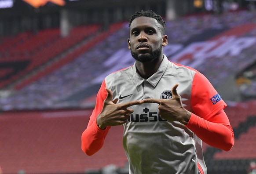
[[[234,132],[223,110],[227,105],[200,72],[194,76],[191,105],[194,113],[187,127],[208,145],[230,150],[234,145]]]

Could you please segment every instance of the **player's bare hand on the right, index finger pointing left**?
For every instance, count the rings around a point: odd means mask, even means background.
[[[177,93],[176,89],[179,86],[176,83],[172,87],[171,99],[154,99],[147,98],[141,101],[142,103],[157,103],[159,109],[159,115],[161,118],[168,121],[179,121],[180,123],[187,124],[190,120],[191,112],[185,109],[181,102],[181,97]]]

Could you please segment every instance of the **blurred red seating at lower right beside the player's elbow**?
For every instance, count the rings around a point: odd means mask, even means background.
[[[210,174],[246,174],[249,163],[256,159],[256,101],[230,103],[225,111],[234,130],[235,144],[229,152],[205,145],[205,163]],[[252,139],[249,139],[252,138]],[[249,152],[250,151],[250,152]]]

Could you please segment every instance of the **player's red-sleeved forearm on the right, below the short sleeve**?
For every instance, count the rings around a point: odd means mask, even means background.
[[[234,145],[234,132],[223,112],[214,116],[212,120],[205,120],[192,113],[186,126],[208,145],[229,151]]]

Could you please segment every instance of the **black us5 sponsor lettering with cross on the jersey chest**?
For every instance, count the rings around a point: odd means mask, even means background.
[[[130,114],[129,122],[156,122],[167,121],[159,116],[158,112],[150,112],[150,109],[144,108],[144,114]]]

